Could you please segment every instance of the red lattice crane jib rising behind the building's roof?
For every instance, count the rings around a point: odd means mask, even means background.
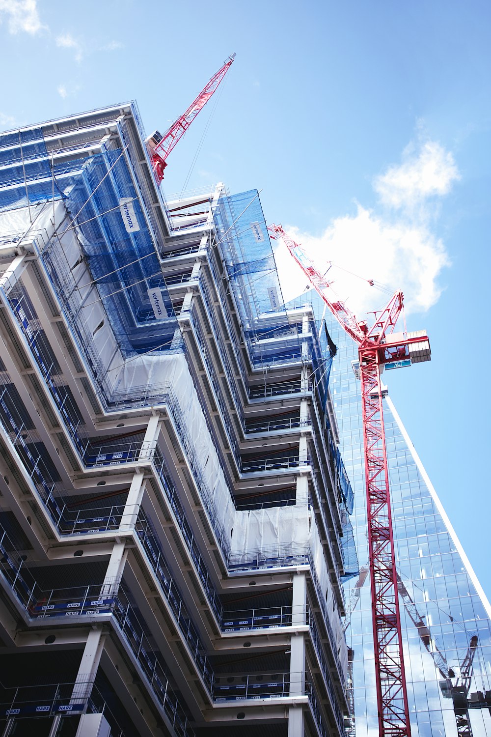
[[[186,112],[180,118],[177,118],[165,133],[162,134],[158,130],[155,130],[146,139],[146,148],[152,161],[152,170],[157,184],[160,184],[163,180],[163,170],[167,166],[166,159],[169,153],[171,153],[174,146],[180,141],[184,133],[186,133],[186,130],[188,130],[199,111],[205,107],[213,92],[216,91],[225,74],[230,69],[230,65],[233,63],[235,57],[236,55],[232,54],[225,60],[223,66],[216,74],[213,74],[211,80],[202,88],[197,98],[191,102]]]

